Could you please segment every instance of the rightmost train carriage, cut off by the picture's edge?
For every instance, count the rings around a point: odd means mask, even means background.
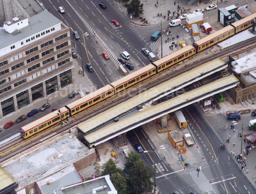
[[[242,18],[236,22],[233,22],[230,24],[235,29],[235,34],[238,32],[241,32],[247,28],[250,28],[252,26],[252,20],[256,18],[256,13],[251,14],[245,18]]]

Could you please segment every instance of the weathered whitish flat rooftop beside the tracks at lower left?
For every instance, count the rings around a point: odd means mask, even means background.
[[[75,161],[94,152],[84,146],[74,135],[52,137],[37,147],[2,164],[2,168],[18,183],[21,189],[64,169]],[[18,170],[17,170],[18,169]]]

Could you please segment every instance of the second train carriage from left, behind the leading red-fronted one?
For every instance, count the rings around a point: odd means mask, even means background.
[[[88,94],[70,104],[66,105],[65,108],[69,110],[69,115],[73,116],[78,112],[81,112],[91,106],[111,97],[114,95],[114,88],[110,85],[105,85],[104,87]]]

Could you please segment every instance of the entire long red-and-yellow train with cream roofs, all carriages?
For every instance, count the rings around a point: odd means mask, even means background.
[[[20,135],[23,138],[28,138],[30,136],[35,135],[53,125],[56,125],[61,121],[61,118],[64,120],[67,117],[70,118],[75,114],[84,111],[99,102],[119,93],[122,92],[135,84],[138,84],[149,77],[164,71],[165,69],[169,69],[170,67],[175,66],[177,63],[188,59],[195,55],[196,53],[217,44],[220,41],[227,39],[234,34],[237,34],[247,28],[252,26],[252,20],[256,18],[256,13],[251,14],[239,21],[236,21],[221,30],[218,30],[198,41],[195,41],[192,45],[188,45],[184,48],[181,48],[165,57],[154,61],[147,66],[129,74],[121,79],[112,82],[95,92],[88,94],[70,104],[61,107],[58,110],[51,112],[40,119],[37,119],[23,127],[20,128]]]

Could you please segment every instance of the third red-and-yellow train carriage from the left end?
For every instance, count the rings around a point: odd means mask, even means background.
[[[110,83],[113,86],[115,94],[118,92],[122,92],[133,85],[142,82],[143,80],[148,79],[148,77],[156,74],[156,68],[152,64],[148,64],[147,66],[126,75],[125,77],[116,80],[115,82]]]

